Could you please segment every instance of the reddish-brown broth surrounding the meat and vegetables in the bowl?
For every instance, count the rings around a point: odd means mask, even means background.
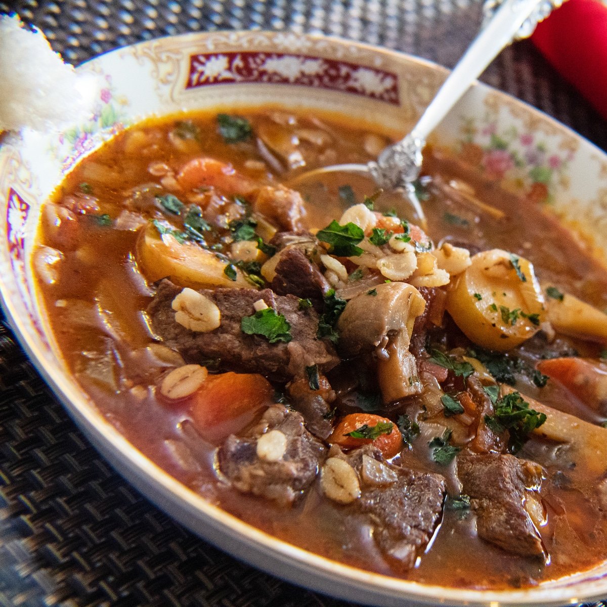
[[[249,114],[254,129],[270,128],[274,124],[269,117],[273,111]],[[146,121],[118,135],[77,166],[59,187],[53,202],[61,202],[66,195],[80,191],[81,183],[87,183],[98,200],[100,213],[115,218],[133,188],[158,183],[158,177],[148,170],[152,163],[181,166],[201,154],[229,161],[251,178],[265,176],[251,168],[250,163],[246,164],[249,158],[259,160],[252,144],[226,144],[217,134],[214,115],[188,117],[200,126],[198,141],[181,142],[179,149],[171,143],[174,118]],[[314,150],[305,140],[302,143],[304,155],[309,156],[308,168],[315,163],[320,166],[334,161],[371,159],[365,152],[368,131],[353,129],[345,119],[330,115],[298,120],[307,129],[327,134],[328,143],[321,146],[320,154],[317,151],[312,154]],[[137,132],[145,134],[145,143],[138,143],[138,135],[134,135]],[[388,141],[384,134],[378,137],[379,141]],[[298,169],[288,172],[282,181],[288,181],[297,172]],[[471,171],[457,158],[443,154],[427,154],[424,174],[444,183],[460,180],[472,189],[476,198],[505,214],[503,219],[495,219],[491,214],[476,212],[462,204],[456,196],[449,197],[444,189],[431,188],[424,208],[429,218],[428,232],[434,242],[452,237],[481,248],[513,251],[534,263],[540,279],[553,282],[600,309],[607,308],[607,272],[540,206],[521,205],[517,197],[504,192],[497,183]],[[345,184],[351,185],[359,201],[373,189],[365,178],[344,175],[331,175],[307,186],[310,228],[320,228],[341,215],[347,205],[340,200],[338,188]],[[377,203],[379,210],[392,206],[396,206],[403,217],[407,216],[409,209],[398,197],[382,195]],[[149,209],[143,208],[141,212],[149,217]],[[446,220],[447,214],[463,222],[454,225]],[[70,250],[64,250],[66,259],[58,282],[39,285],[59,350],[102,415],[155,463],[242,520],[328,558],[398,575],[382,558],[370,529],[357,521],[344,520],[341,507],[325,499],[317,484],[293,509],[285,510],[270,503],[259,507],[259,499],[217,482],[212,467],[215,444],[195,435],[185,411],[161,404],[151,390],[144,391],[142,396],[130,389],[154,385],[157,380],[146,375],[149,353],[144,348],[152,336],[142,311],[149,303],[151,291],[134,262],[136,240],[134,231],[108,229],[84,217],[79,223],[77,242],[69,246]],[[39,242],[58,248],[62,244],[48,228],[41,229]],[[591,345],[568,343],[582,353],[596,354],[596,348]],[[531,350],[526,353],[525,347],[521,348],[521,354],[537,359],[537,354]],[[546,405],[591,422],[600,421],[562,388],[551,384],[537,388],[531,382],[519,388]],[[250,421],[251,416],[237,419],[223,428],[223,433],[239,432]],[[219,441],[219,437],[215,437],[215,441]],[[189,451],[182,452],[180,445]],[[565,466],[554,452],[555,446],[531,439],[521,455],[540,461],[551,474]],[[402,461],[416,469],[446,475],[449,492],[458,492],[453,466],[445,470],[430,461],[427,447],[420,441],[403,455]],[[607,524],[605,518],[597,515],[595,504],[589,499],[596,479],[586,478],[579,470],[569,470],[568,477],[568,484],[547,483],[542,493],[548,508],[548,524],[541,528],[541,535],[551,552],[549,564],[537,558],[508,554],[479,540],[471,514],[460,516],[458,512],[446,510],[431,548],[421,556],[418,566],[402,577],[459,588],[519,588],[582,571],[603,560],[607,557]],[[461,558],[462,555],[465,558]]]

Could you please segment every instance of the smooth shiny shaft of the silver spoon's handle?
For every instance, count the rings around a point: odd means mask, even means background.
[[[470,85],[535,12],[539,0],[506,0],[498,8],[443,83],[432,103],[413,127],[410,137],[426,141]]]

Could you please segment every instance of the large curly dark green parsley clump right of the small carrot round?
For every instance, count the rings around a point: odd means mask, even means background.
[[[495,413],[486,415],[484,420],[495,433],[510,432],[510,451],[516,453],[523,447],[529,432],[546,421],[546,415],[529,409],[529,403],[520,393],[511,392],[495,403]]]

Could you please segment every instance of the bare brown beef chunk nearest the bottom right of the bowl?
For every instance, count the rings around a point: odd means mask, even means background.
[[[541,537],[524,504],[535,501],[539,464],[514,455],[460,455],[457,473],[470,496],[479,537],[524,556],[543,553]]]

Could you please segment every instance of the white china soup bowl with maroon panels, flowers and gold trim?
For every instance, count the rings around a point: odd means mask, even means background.
[[[103,86],[87,121],[56,134],[5,137],[0,149],[0,293],[13,330],[70,415],[144,495],[196,534],[308,588],[373,605],[565,605],[607,596],[607,563],[535,588],[423,585],[352,568],[277,540],[189,490],[138,452],[70,375],[36,291],[32,250],[42,204],[104,141],[153,115],[276,104],[365,117],[405,133],[446,77],[421,59],[294,33],[197,33],[115,50],[78,68]],[[358,118],[357,118],[358,120]],[[477,83],[433,144],[501,180],[607,259],[607,155],[532,107]]]

